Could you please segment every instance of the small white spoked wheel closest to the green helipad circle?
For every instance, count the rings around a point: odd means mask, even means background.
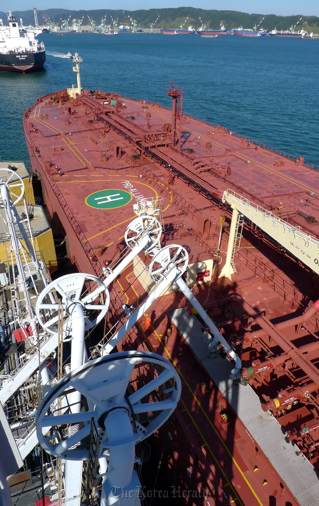
[[[144,216],[136,218],[130,223],[125,231],[125,242],[130,248],[134,248],[138,244],[141,237],[145,234],[149,235],[152,242],[151,245],[160,243],[162,235],[162,225],[153,216]],[[149,246],[148,246],[149,247]]]

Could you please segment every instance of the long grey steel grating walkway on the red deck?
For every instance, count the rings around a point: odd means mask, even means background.
[[[269,411],[261,409],[259,397],[250,385],[244,387],[227,379],[232,364],[221,357],[207,357],[211,338],[202,333],[200,321],[189,316],[185,308],[168,314],[300,506],[319,506],[319,480],[310,462],[296,454],[294,444],[286,442],[280,424]]]

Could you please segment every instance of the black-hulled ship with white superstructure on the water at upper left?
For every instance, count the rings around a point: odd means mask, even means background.
[[[0,70],[12,72],[30,72],[42,68],[46,61],[43,42],[36,40],[38,33],[19,27],[17,19],[8,14],[9,26],[0,20]]]

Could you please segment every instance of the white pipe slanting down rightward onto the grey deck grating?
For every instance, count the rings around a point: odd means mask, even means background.
[[[197,301],[194,294],[191,292],[191,290],[188,288],[187,284],[182,278],[179,278],[176,283],[178,284],[179,288],[184,293],[184,296],[189,300],[189,302],[192,304],[192,306],[196,309],[197,313],[201,316],[202,320],[206,323],[206,325],[209,327],[211,332],[214,335],[213,341],[209,344],[209,350],[213,350],[216,347],[216,344],[219,342],[225,349],[225,352],[234,360],[235,367],[230,371],[229,377],[231,379],[238,379],[240,377],[240,370],[242,368],[242,361],[238,357],[238,355],[233,351],[231,346],[227,343],[227,341],[224,339],[223,335],[220,333],[214,322],[211,320],[211,318],[206,313],[205,309],[201,306],[201,304]]]

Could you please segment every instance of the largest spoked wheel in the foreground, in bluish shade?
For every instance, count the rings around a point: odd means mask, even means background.
[[[81,392],[85,411],[65,412],[70,411],[65,407],[74,389]],[[172,414],[180,394],[180,378],[165,358],[142,351],[113,353],[78,367],[46,394],[36,413],[37,438],[51,455],[87,460],[92,419],[100,436],[100,456],[108,448],[132,445],[150,436]],[[63,414],[57,408],[59,398],[65,406]],[[107,433],[105,426],[114,411],[126,413],[133,428],[131,437],[123,436],[121,426]],[[111,444],[114,431],[116,443]]]

